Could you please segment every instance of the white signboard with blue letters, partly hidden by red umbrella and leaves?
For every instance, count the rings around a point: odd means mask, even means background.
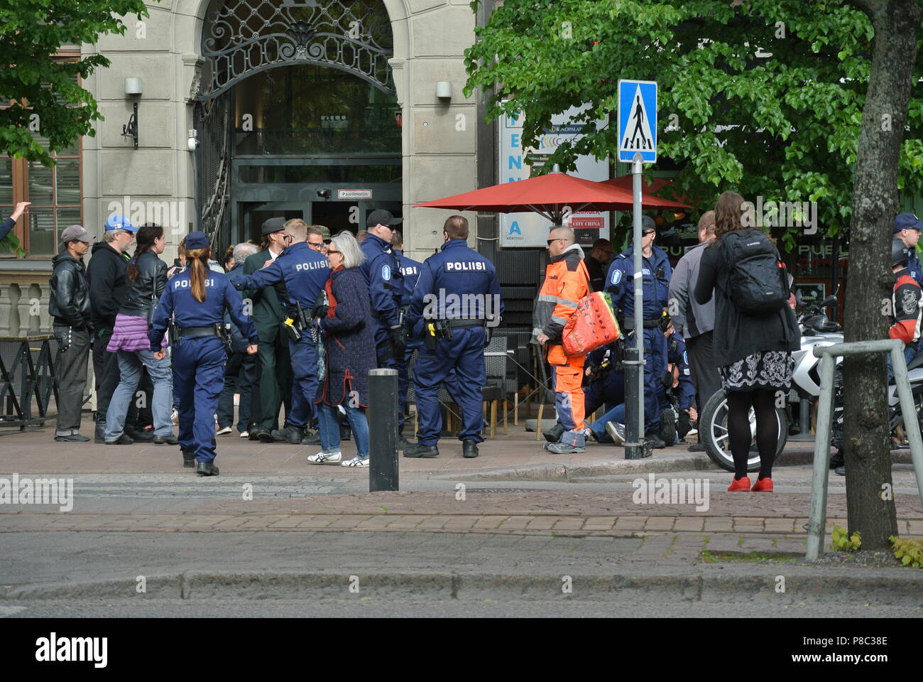
[[[573,119],[581,113],[581,108],[571,108],[569,111],[552,118],[552,127],[538,140],[537,148],[523,149],[522,118],[516,116],[500,116],[499,135],[500,153],[497,182],[516,182],[529,177],[530,164],[544,164],[548,157],[555,152],[564,140],[573,140],[581,134],[584,124],[572,123]],[[600,128],[605,123],[597,122]],[[609,177],[609,163],[607,160],[597,161],[592,156],[578,156],[577,177],[586,180],[600,181]],[[600,234],[589,240],[590,243],[599,236],[609,236],[608,213],[568,213],[565,212],[564,223],[572,229],[600,230]],[[499,230],[500,246],[503,247],[545,247],[551,221],[538,213],[500,213]]]

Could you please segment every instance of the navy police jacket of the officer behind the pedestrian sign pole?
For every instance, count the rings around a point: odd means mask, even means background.
[[[673,269],[664,250],[653,247],[650,258],[641,257],[645,320],[658,319],[669,298],[670,276]],[[625,319],[634,315],[634,247],[618,254],[605,275],[605,291],[612,297],[613,308],[620,308]]]

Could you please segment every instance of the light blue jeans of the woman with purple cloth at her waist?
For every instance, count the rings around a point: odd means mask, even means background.
[[[150,411],[154,418],[155,435],[171,435],[173,422],[170,420],[171,394],[173,393],[173,372],[170,359],[154,359],[153,351],[118,351],[118,369],[121,374],[118,386],[113,393],[106,411],[106,441],[117,440],[125,431],[128,406],[135,398],[135,391],[141,379],[141,367],[148,368],[150,380],[154,384]]]

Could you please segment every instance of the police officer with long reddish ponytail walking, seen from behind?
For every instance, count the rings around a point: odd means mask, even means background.
[[[227,309],[249,341],[246,352],[257,352],[257,328],[244,314],[244,302],[227,275],[209,270],[211,250],[203,232],[186,237],[188,267],[167,282],[148,334],[157,359],[166,354],[161,341],[173,320],[174,391],[179,396],[179,446],[183,465],[199,476],[217,476],[215,410],[224,387],[227,350],[221,338]]]

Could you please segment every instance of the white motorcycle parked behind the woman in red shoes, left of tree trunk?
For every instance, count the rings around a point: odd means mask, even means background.
[[[776,407],[776,448],[778,457],[785,443],[788,441],[788,410],[797,405],[801,432],[809,431],[810,404],[821,395],[820,358],[812,352],[816,346],[833,346],[843,343],[843,333],[838,323],[831,322],[824,309],[836,303],[836,295],[825,298],[820,303],[809,304],[797,316],[798,328],[801,331],[801,344],[797,351],[792,353],[795,360],[795,369],[792,371],[792,387],[785,396],[785,405]],[[843,358],[837,358],[837,372],[839,379],[835,386],[839,386],[838,396],[834,398],[834,423],[843,422],[842,401],[842,372],[839,371]],[[923,366],[923,362],[921,362]],[[920,370],[923,379],[923,369]],[[923,384],[921,384],[923,388]],[[750,424],[750,457],[747,460],[748,471],[760,470],[760,454],[756,448],[756,414],[753,408],[749,410]],[[724,390],[717,391],[708,399],[699,416],[699,432],[705,453],[722,469],[734,471],[734,457],[731,455],[727,433],[727,396]],[[834,439],[835,439],[834,427]],[[842,446],[842,436],[839,444]]]

